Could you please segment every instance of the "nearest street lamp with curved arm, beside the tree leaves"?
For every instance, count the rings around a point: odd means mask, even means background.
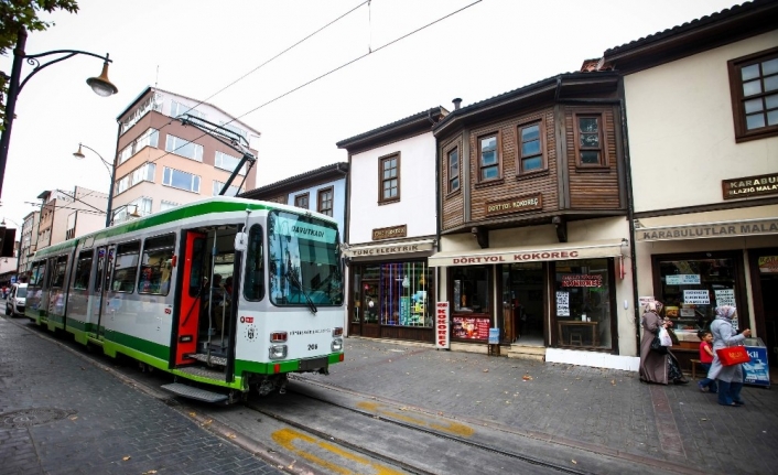
[[[110,80],[108,80],[108,63],[111,63],[111,60],[108,58],[108,54],[100,56],[99,54],[78,50],[55,50],[39,54],[25,54],[24,45],[26,44],[26,40],[28,32],[22,28],[19,30],[19,34],[17,36],[17,47],[13,50],[13,65],[11,66],[11,77],[8,83],[8,99],[6,100],[6,127],[2,131],[2,138],[0,138],[0,196],[2,196],[2,183],[6,177],[8,147],[11,142],[11,126],[13,125],[14,114],[17,110],[17,98],[19,97],[19,93],[21,93],[22,88],[32,76],[54,63],[65,61],[77,54],[84,54],[102,60],[102,73],[97,77],[90,77],[86,80],[86,84],[91,87],[91,90],[102,97],[107,97],[119,91],[119,89]],[[50,61],[48,63],[41,64],[39,58],[50,55],[61,56]],[[34,66],[34,68],[23,80],[21,80],[22,62],[24,60],[26,60],[28,64]]]

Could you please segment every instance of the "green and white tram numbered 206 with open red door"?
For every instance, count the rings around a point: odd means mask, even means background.
[[[216,196],[39,250],[25,313],[231,402],[343,360],[343,287],[331,217]]]

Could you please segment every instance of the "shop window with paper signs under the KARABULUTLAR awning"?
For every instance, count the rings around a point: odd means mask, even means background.
[[[681,256],[656,257],[655,261],[659,271],[656,296],[664,304],[664,315],[673,321],[679,342],[699,345],[696,332],[710,327],[716,306],[737,306],[734,259]]]

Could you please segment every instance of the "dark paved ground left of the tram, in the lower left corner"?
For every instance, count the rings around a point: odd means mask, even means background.
[[[0,474],[282,473],[7,319],[0,319]]]

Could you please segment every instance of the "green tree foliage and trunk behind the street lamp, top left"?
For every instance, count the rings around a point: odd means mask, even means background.
[[[37,18],[42,11],[53,12],[65,10],[69,13],[78,11],[76,0],[0,0],[0,54],[13,54],[19,32],[45,31],[54,22],[43,21]],[[9,76],[0,71],[0,130],[6,125],[6,95],[8,94]]]

